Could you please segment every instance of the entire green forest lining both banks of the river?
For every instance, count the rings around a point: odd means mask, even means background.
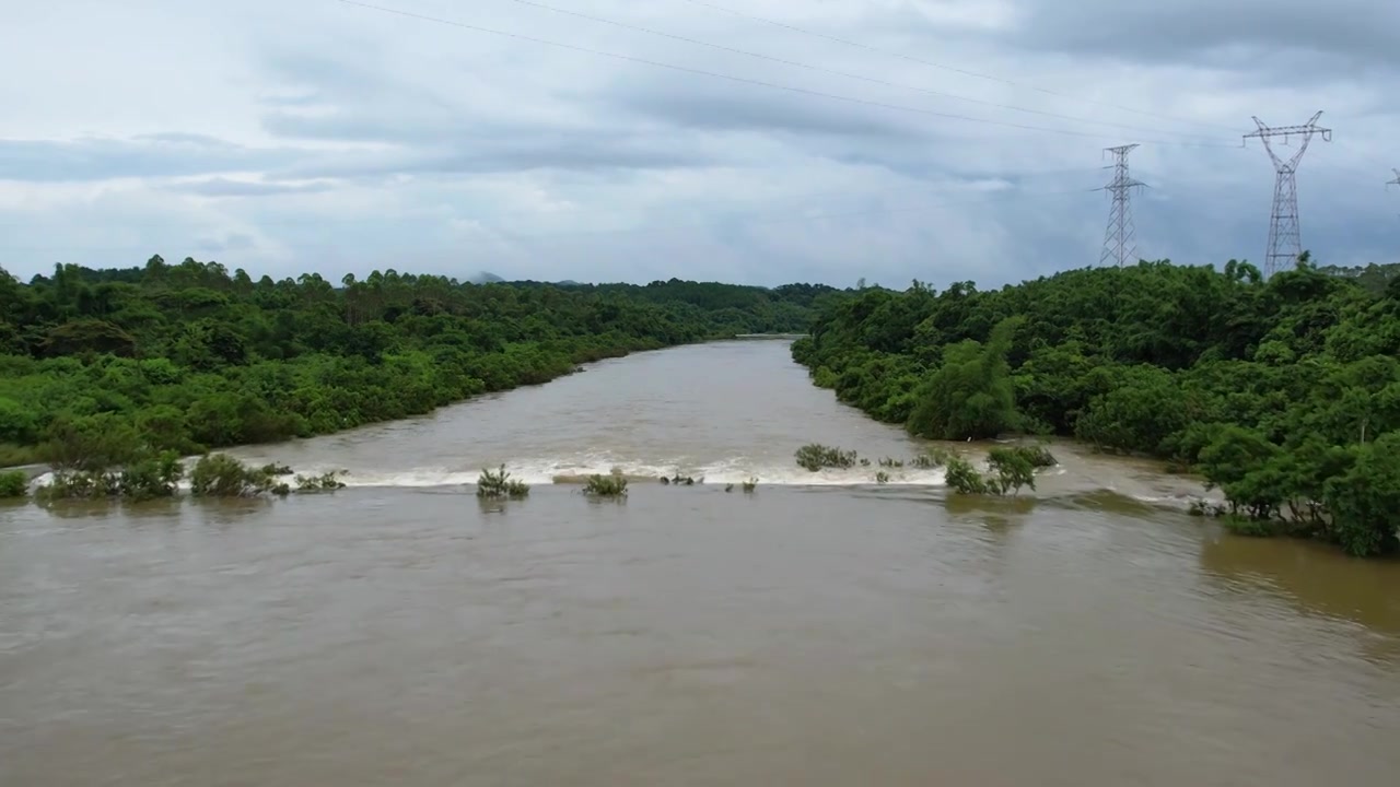
[[[1162,260],[986,291],[255,281],[160,256],[29,281],[0,270],[0,466],[133,466],[133,485],[169,489],[178,455],[421,415],[637,350],[805,332],[792,357],[818,385],[914,436],[1156,457],[1218,487],[1211,513],[1238,532],[1371,556],[1397,548],[1396,267],[1303,255],[1266,280],[1236,260]]]

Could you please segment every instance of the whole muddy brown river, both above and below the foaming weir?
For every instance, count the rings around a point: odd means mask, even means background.
[[[916,450],[727,342],[238,452],[335,494],[0,508],[0,784],[1396,783],[1400,566],[1071,445],[969,501],[809,441]]]

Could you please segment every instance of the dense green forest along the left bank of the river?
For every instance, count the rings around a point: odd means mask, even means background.
[[[28,283],[0,269],[0,466],[106,466],[427,413],[636,350],[802,332],[833,293],[395,270],[255,281],[160,256]]]

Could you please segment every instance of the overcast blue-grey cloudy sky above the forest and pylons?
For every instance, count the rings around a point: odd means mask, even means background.
[[[1394,0],[370,1],[440,21],[6,3],[0,266],[995,286],[1098,263],[1126,143],[1141,256],[1259,260],[1242,134],[1319,109],[1303,245],[1400,259]]]

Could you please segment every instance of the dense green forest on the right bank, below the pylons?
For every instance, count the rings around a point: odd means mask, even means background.
[[[1249,535],[1396,549],[1400,277],[1249,263],[1091,267],[818,304],[792,357],[882,422],[939,440],[1079,438],[1196,472]]]

